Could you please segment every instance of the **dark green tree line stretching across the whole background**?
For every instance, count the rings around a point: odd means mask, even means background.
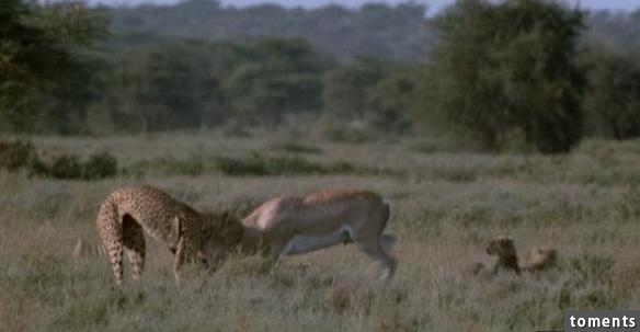
[[[436,133],[490,151],[517,144],[542,153],[569,151],[585,136],[640,135],[638,43],[606,37],[610,25],[617,33],[638,24],[635,13],[614,24],[613,14],[555,1],[458,0],[437,16],[421,19],[424,26],[415,33],[431,37],[422,42],[419,60],[407,60],[319,50],[313,39],[294,36],[295,30],[224,41],[183,35],[205,34],[207,25],[193,25],[202,20],[216,21],[230,11],[251,16],[265,7],[238,10],[192,0],[114,14],[82,2],[7,3],[0,10],[0,128],[5,133],[273,128],[297,117],[380,133]],[[338,10],[319,11],[328,9]],[[389,11],[408,9],[424,14],[414,4],[379,5],[376,20],[384,22],[377,24],[390,24],[385,21]],[[372,5],[341,10],[355,16],[367,12],[370,23],[377,22]],[[149,26],[157,11],[165,19],[182,18],[182,27],[122,27]],[[300,22],[317,14],[284,11]],[[628,38],[637,37],[628,31]]]

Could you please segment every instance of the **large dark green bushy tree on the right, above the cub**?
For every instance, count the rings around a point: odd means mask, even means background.
[[[424,114],[500,150],[521,133],[542,153],[581,137],[582,13],[545,0],[459,0],[434,21]]]

